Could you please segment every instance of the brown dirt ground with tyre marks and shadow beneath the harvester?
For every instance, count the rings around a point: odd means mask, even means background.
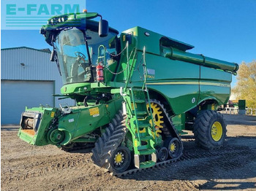
[[[256,190],[256,117],[225,114],[225,147],[206,151],[184,136],[176,163],[121,178],[91,161],[91,152],[68,153],[18,139],[1,127],[1,190]]]

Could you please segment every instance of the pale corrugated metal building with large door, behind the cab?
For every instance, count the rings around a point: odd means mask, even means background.
[[[1,49],[1,124],[18,124],[25,106],[74,104],[59,100],[61,76],[50,50],[29,47]]]

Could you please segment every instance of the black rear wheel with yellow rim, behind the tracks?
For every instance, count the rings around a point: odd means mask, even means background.
[[[218,149],[223,146],[227,128],[222,114],[213,110],[200,112],[195,119],[193,133],[195,143],[203,149]]]

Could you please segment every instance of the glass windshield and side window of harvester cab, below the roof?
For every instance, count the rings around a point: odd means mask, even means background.
[[[113,63],[110,55],[118,52],[118,33],[110,30],[108,36],[99,37],[94,26],[94,22],[87,21],[86,30],[67,28],[56,36],[56,52],[64,85],[95,82],[97,64]]]

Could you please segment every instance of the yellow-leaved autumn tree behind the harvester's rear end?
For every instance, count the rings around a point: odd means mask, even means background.
[[[241,63],[236,79],[236,99],[245,99],[246,106],[256,108],[256,61]]]

